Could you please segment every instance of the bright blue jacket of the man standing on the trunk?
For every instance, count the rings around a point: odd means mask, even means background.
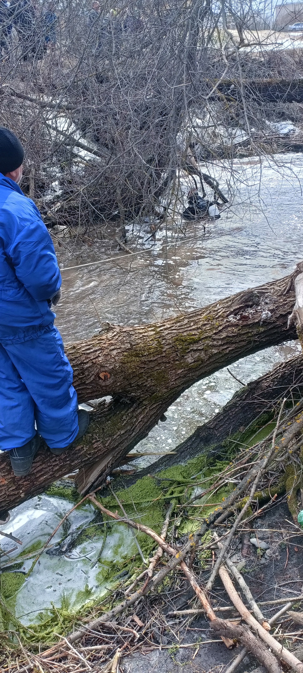
[[[0,343],[35,339],[53,324],[61,287],[53,241],[34,202],[0,173]]]

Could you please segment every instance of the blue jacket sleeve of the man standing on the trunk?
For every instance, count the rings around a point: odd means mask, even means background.
[[[41,219],[23,227],[11,245],[9,256],[15,275],[37,302],[50,299],[61,287],[53,241]]]

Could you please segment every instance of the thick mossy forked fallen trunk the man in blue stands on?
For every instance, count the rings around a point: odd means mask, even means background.
[[[80,468],[86,492],[154,427],[167,407],[195,381],[244,355],[296,336],[287,329],[294,277],[238,293],[186,316],[151,325],[110,328],[70,345],[80,401],[113,395],[96,409],[90,431],[61,457],[42,448],[32,472],[16,479],[9,456],[0,458],[0,510],[42,493]]]

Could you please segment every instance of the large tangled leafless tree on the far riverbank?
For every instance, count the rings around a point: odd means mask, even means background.
[[[26,146],[24,188],[46,223],[98,232],[108,219],[163,212],[181,168],[204,191],[199,162],[236,150],[230,129],[256,149],[251,129],[264,125],[269,102],[250,95],[247,80],[279,65],[257,38],[255,52],[246,48],[259,9],[236,0],[3,0],[1,120]],[[302,70],[301,55],[290,60]]]

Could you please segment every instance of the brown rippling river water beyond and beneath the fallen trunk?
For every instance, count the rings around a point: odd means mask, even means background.
[[[205,234],[201,223],[187,223],[180,233],[179,218],[177,226],[170,219],[162,225],[156,243],[149,238],[148,223],[129,225],[129,244],[137,244],[133,255],[100,240],[94,252],[88,248],[67,254],[58,248],[63,300],[57,307],[57,326],[65,341],[96,334],[104,321],[142,324],[182,314],[293,271],[303,256],[302,155],[249,157],[203,170],[215,174],[222,190],[232,194],[221,218],[207,222]],[[181,178],[185,194],[188,184]],[[295,342],[266,349],[231,369],[246,383],[299,349]],[[194,384],[170,406],[166,423],[159,423],[137,450],[173,450],[239,387],[226,369]]]

